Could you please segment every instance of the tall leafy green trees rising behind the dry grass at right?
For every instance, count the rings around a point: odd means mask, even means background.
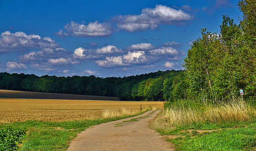
[[[220,33],[206,28],[187,52],[183,66],[187,86],[184,98],[202,102],[239,97],[255,101],[256,95],[256,0],[239,0],[243,13],[239,25],[223,15]]]

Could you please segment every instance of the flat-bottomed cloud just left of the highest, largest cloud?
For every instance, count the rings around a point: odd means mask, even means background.
[[[71,21],[64,26],[64,29],[59,30],[59,32],[55,34],[60,37],[96,37],[112,35],[112,32],[112,26],[109,23],[99,23],[98,21],[95,21],[85,25]]]

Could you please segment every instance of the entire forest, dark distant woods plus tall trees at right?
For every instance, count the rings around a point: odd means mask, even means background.
[[[36,76],[0,73],[0,89],[116,96],[123,101],[221,102],[240,96],[256,96],[256,2],[240,0],[239,25],[223,15],[220,32],[201,29],[184,58],[184,70],[107,77]]]

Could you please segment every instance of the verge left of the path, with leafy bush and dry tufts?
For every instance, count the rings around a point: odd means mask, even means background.
[[[89,126],[136,116],[150,109],[151,107],[136,111],[124,108],[106,110],[107,114],[104,111],[101,118],[88,120],[17,121],[0,124],[0,151],[14,151],[17,148],[19,151],[63,151],[80,131],[84,131]]]

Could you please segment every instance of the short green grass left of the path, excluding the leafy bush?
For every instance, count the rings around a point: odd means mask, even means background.
[[[87,127],[132,116],[64,122],[23,121],[0,124],[0,129],[10,127],[27,131],[19,151],[63,151],[69,147],[69,142]]]

